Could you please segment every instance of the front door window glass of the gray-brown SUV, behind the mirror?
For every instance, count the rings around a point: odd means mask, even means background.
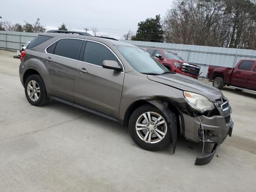
[[[102,66],[104,60],[114,60],[118,62],[116,56],[104,45],[90,41],[86,42],[83,61]]]

